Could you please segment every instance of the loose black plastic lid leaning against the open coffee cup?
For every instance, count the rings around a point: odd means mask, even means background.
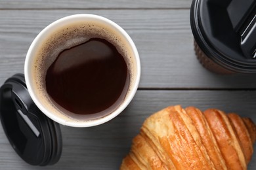
[[[12,148],[24,161],[44,166],[60,159],[60,126],[35,106],[24,75],[14,75],[1,86],[0,118]]]

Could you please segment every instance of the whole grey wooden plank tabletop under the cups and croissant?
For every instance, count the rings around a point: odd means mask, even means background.
[[[96,127],[61,126],[63,151],[51,167],[24,163],[0,127],[0,169],[118,169],[144,119],[169,105],[219,108],[256,122],[255,75],[215,75],[193,49],[191,0],[1,0],[0,84],[24,73],[26,52],[45,26],[70,14],[98,14],[129,33],[139,50],[142,75],[135,98],[119,116]],[[256,149],[256,148],[255,148]],[[249,169],[256,169],[254,154]]]

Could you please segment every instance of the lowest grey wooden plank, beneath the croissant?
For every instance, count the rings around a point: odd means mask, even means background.
[[[139,90],[119,116],[96,127],[61,126],[63,152],[60,161],[44,169],[118,169],[129,152],[131,139],[150,114],[169,105],[218,108],[249,116],[256,122],[256,91]],[[255,147],[256,149],[256,147]],[[41,169],[24,163],[12,150],[0,128],[0,169]],[[248,169],[256,169],[256,154]]]

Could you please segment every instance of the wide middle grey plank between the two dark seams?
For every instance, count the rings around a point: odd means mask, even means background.
[[[26,52],[54,20],[77,13],[98,14],[121,25],[139,50],[140,88],[249,89],[255,75],[215,75],[194,54],[189,10],[0,10],[0,84],[23,73]]]

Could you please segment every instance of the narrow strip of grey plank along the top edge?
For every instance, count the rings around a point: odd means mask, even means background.
[[[3,0],[0,9],[152,9],[152,8],[190,8],[191,0],[58,0],[58,1],[33,1],[33,0]]]

